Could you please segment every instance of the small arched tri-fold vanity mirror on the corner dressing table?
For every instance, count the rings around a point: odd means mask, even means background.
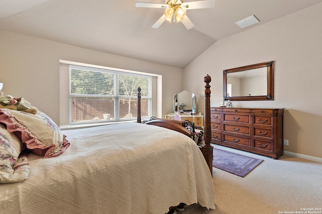
[[[173,97],[173,112],[183,110],[184,113],[196,113],[196,95],[184,90]]]

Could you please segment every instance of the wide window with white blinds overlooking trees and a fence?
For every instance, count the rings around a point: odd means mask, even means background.
[[[141,117],[151,117],[151,80],[147,75],[70,65],[70,123],[136,119],[138,87]]]

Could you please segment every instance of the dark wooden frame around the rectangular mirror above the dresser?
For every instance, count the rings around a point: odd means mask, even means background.
[[[267,95],[227,97],[227,74],[232,72],[246,71],[246,70],[264,68],[264,67],[267,67]],[[230,101],[273,100],[273,95],[274,95],[274,61],[223,70],[223,97],[225,100],[230,100]]]

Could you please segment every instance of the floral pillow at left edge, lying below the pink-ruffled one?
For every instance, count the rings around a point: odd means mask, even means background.
[[[0,183],[19,182],[28,177],[29,162],[22,150],[21,140],[0,124]]]

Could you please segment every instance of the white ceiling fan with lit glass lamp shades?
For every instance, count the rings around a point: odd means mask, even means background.
[[[203,0],[184,3],[183,0],[166,0],[166,4],[154,4],[154,3],[141,3],[138,2],[135,4],[137,8],[160,8],[165,9],[164,15],[154,23],[152,28],[158,28],[168,21],[169,23],[182,22],[182,24],[189,30],[194,27],[194,24],[186,15],[186,10],[191,9],[202,9],[202,8],[214,8],[215,0]]]

